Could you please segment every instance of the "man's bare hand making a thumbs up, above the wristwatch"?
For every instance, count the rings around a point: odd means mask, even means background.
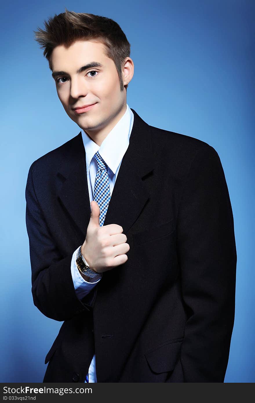
[[[126,253],[130,247],[126,243],[126,235],[122,233],[122,226],[118,224],[100,226],[100,208],[95,201],[90,204],[90,220],[81,253],[92,270],[103,273],[125,263],[128,259]]]

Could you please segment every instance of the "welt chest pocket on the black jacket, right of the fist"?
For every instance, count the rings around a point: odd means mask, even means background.
[[[140,245],[141,243],[145,243],[148,241],[152,241],[153,239],[158,239],[163,237],[164,235],[168,235],[174,231],[174,219],[172,218],[168,222],[164,222],[163,224],[154,226],[153,228],[149,228],[145,231],[140,231],[133,234],[133,242],[135,245]]]

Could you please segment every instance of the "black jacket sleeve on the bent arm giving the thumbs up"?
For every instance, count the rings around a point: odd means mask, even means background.
[[[48,318],[64,321],[89,310],[87,301],[91,301],[91,293],[95,296],[95,289],[78,299],[71,275],[73,253],[62,256],[52,238],[35,194],[33,164],[25,189],[33,302]]]

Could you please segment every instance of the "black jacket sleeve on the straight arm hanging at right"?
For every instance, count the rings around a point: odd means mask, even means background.
[[[188,313],[180,351],[184,382],[224,382],[234,324],[236,245],[222,164],[211,146],[197,152],[183,188],[177,250]]]

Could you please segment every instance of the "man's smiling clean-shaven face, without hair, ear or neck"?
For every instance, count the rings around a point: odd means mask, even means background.
[[[88,64],[91,66],[81,69]],[[120,91],[116,66],[106,56],[102,42],[79,40],[69,48],[57,46],[52,52],[52,69],[64,110],[88,134],[113,127],[114,120],[126,110],[126,91]]]

